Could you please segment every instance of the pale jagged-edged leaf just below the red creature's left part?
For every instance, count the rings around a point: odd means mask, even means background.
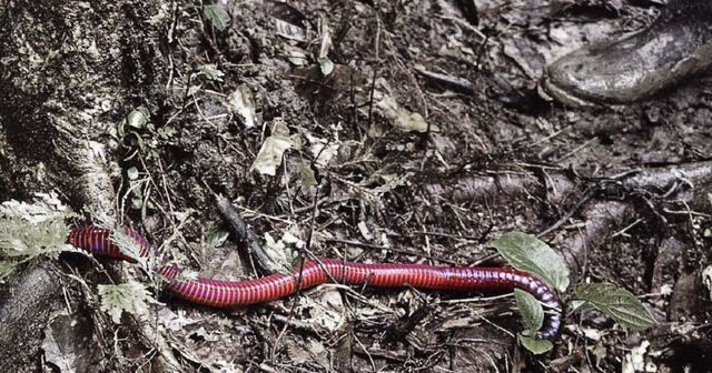
[[[157,303],[139,282],[127,282],[118,285],[99,285],[101,311],[111,316],[115,323],[121,322],[121,313],[135,315],[148,313],[148,303]]]

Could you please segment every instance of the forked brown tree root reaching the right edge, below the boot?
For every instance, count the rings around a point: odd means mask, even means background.
[[[706,191],[712,184],[710,161],[635,170],[609,178],[536,171],[473,177],[448,184],[429,183],[423,186],[423,191],[431,200],[448,202],[475,201],[496,205],[534,199],[546,205],[574,205],[564,220],[577,213],[584,219],[584,226],[560,244],[572,271],[572,280],[577,280],[583,273],[589,250],[601,246],[634,215],[635,206],[624,202],[624,198],[684,202],[692,209],[710,210],[706,201]],[[578,203],[586,202],[592,191],[594,195],[611,200],[592,199],[592,202]],[[581,211],[575,211],[578,209]],[[550,231],[546,229],[544,232]]]

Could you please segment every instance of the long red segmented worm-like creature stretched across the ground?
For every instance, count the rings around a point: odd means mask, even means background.
[[[125,233],[140,246],[147,256],[150,243],[138,232]],[[87,225],[70,231],[67,242],[95,255],[128,260],[111,241],[108,229]],[[541,339],[554,339],[562,325],[562,306],[556,292],[537,276],[508,268],[436,266],[426,264],[362,264],[336,259],[308,261],[291,273],[276,273],[261,279],[219,281],[198,278],[180,279],[182,270],[176,265],[157,269],[168,289],[179,298],[214,308],[230,308],[274,301],[326,282],[349,285],[396,288],[411,285],[419,289],[445,291],[502,291],[521,289],[536,298],[547,310]]]

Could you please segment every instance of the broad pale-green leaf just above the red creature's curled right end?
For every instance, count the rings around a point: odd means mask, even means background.
[[[563,258],[533,235],[505,233],[492,245],[515,269],[537,274],[560,293],[568,288],[568,268]]]

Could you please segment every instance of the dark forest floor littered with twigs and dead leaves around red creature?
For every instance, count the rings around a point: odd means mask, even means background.
[[[154,89],[121,111],[144,105],[151,124],[117,119],[102,135],[118,165],[118,211],[181,265],[259,275],[234,238],[219,239],[229,229],[214,193],[260,239],[294,234],[306,256],[502,265],[487,242],[544,233],[572,280],[630,290],[659,325],[629,332],[596,312],[574,314],[554,350],[533,355],[517,344],[512,296],[324,285],[211,310],[160,293],[150,321],[165,343],[148,350],[136,347],[131,323],[99,321],[97,310],[53,319],[48,330],[89,325],[90,354],[58,342],[81,356],[76,366],[151,370],[169,353],[174,369],[206,372],[709,371],[712,78],[625,107],[565,108],[537,91],[553,60],[641,30],[660,3],[221,6],[225,31],[196,3],[166,7]],[[196,73],[208,64],[224,74]],[[275,177],[250,170],[280,123],[301,148],[286,151]],[[659,173],[626,183],[641,170]],[[96,268],[69,263],[96,288]],[[85,291],[72,288],[68,302]]]

